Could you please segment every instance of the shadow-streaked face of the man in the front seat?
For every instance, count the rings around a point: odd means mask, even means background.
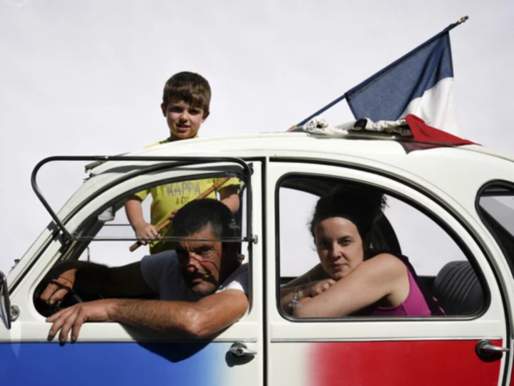
[[[206,296],[218,287],[221,269],[221,241],[188,241],[187,239],[209,239],[215,237],[211,226],[200,232],[189,234],[184,241],[176,244],[178,264],[181,274],[191,291]]]

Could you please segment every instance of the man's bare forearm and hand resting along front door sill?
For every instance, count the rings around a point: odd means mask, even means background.
[[[54,323],[49,333],[51,338],[61,330],[61,343],[66,342],[70,330],[71,341],[75,342],[84,322],[105,320],[208,337],[241,319],[247,309],[246,294],[238,289],[227,289],[198,302],[109,299],[79,303],[46,321]]]

